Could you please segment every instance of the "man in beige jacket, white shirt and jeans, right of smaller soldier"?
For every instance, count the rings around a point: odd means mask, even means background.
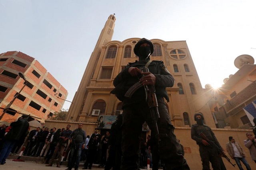
[[[243,170],[241,162],[246,166],[247,170],[251,170],[250,165],[248,164],[247,160],[245,159],[245,152],[244,149],[240,146],[239,143],[233,138],[233,136],[228,137],[229,142],[226,144],[226,149],[228,154],[232,159],[236,161],[236,164],[240,170]]]

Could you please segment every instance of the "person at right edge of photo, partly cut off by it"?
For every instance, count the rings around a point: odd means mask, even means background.
[[[252,160],[256,163],[256,139],[252,133],[246,133],[247,139],[244,140],[244,146],[249,149]]]

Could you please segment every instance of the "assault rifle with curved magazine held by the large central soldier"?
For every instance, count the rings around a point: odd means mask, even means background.
[[[140,70],[142,72],[149,72],[148,67],[145,67],[145,66],[140,67]],[[142,86],[143,85],[142,85],[142,83],[140,83],[140,81],[135,83],[132,87],[130,87],[130,89],[126,92],[126,94],[124,96],[131,98],[133,93]],[[153,128],[154,128],[152,130],[154,132],[156,132],[156,139],[159,144],[160,143],[160,135],[159,135],[158,127],[157,127],[157,119],[160,116],[159,116],[159,112],[158,112],[158,103],[156,100],[156,89],[155,89],[154,85],[144,85],[144,89],[145,89],[145,93],[146,93],[146,101],[148,103],[148,107],[150,108],[150,114],[151,114],[152,124],[153,124]],[[167,134],[165,134],[164,136],[167,136]]]

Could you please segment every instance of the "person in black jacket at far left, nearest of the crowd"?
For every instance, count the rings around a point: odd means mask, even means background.
[[[6,134],[5,142],[0,153],[0,164],[5,164],[6,158],[9,156],[14,144],[18,140],[20,140],[22,136],[26,135],[29,127],[29,123],[26,118],[26,115],[22,115],[22,117],[19,118],[18,121],[11,123],[10,126],[12,128]]]

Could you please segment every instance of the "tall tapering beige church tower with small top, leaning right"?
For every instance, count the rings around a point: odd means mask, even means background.
[[[66,121],[84,121],[80,119],[80,115],[82,117],[85,117],[88,114],[82,113],[88,95],[88,89],[86,89],[86,87],[90,84],[90,80],[92,79],[94,72],[96,70],[96,66],[102,51],[102,46],[104,46],[107,42],[110,42],[112,40],[112,36],[114,34],[115,21],[116,17],[111,14],[108,17],[108,20],[106,21],[106,24],[100,33],[96,46],[92,52],[92,55],[84,71],[84,75],[82,77],[78,90],[76,91],[74,98],[72,100],[72,104],[70,105],[70,108],[68,110]],[[88,74],[90,74],[90,76],[88,76]]]

